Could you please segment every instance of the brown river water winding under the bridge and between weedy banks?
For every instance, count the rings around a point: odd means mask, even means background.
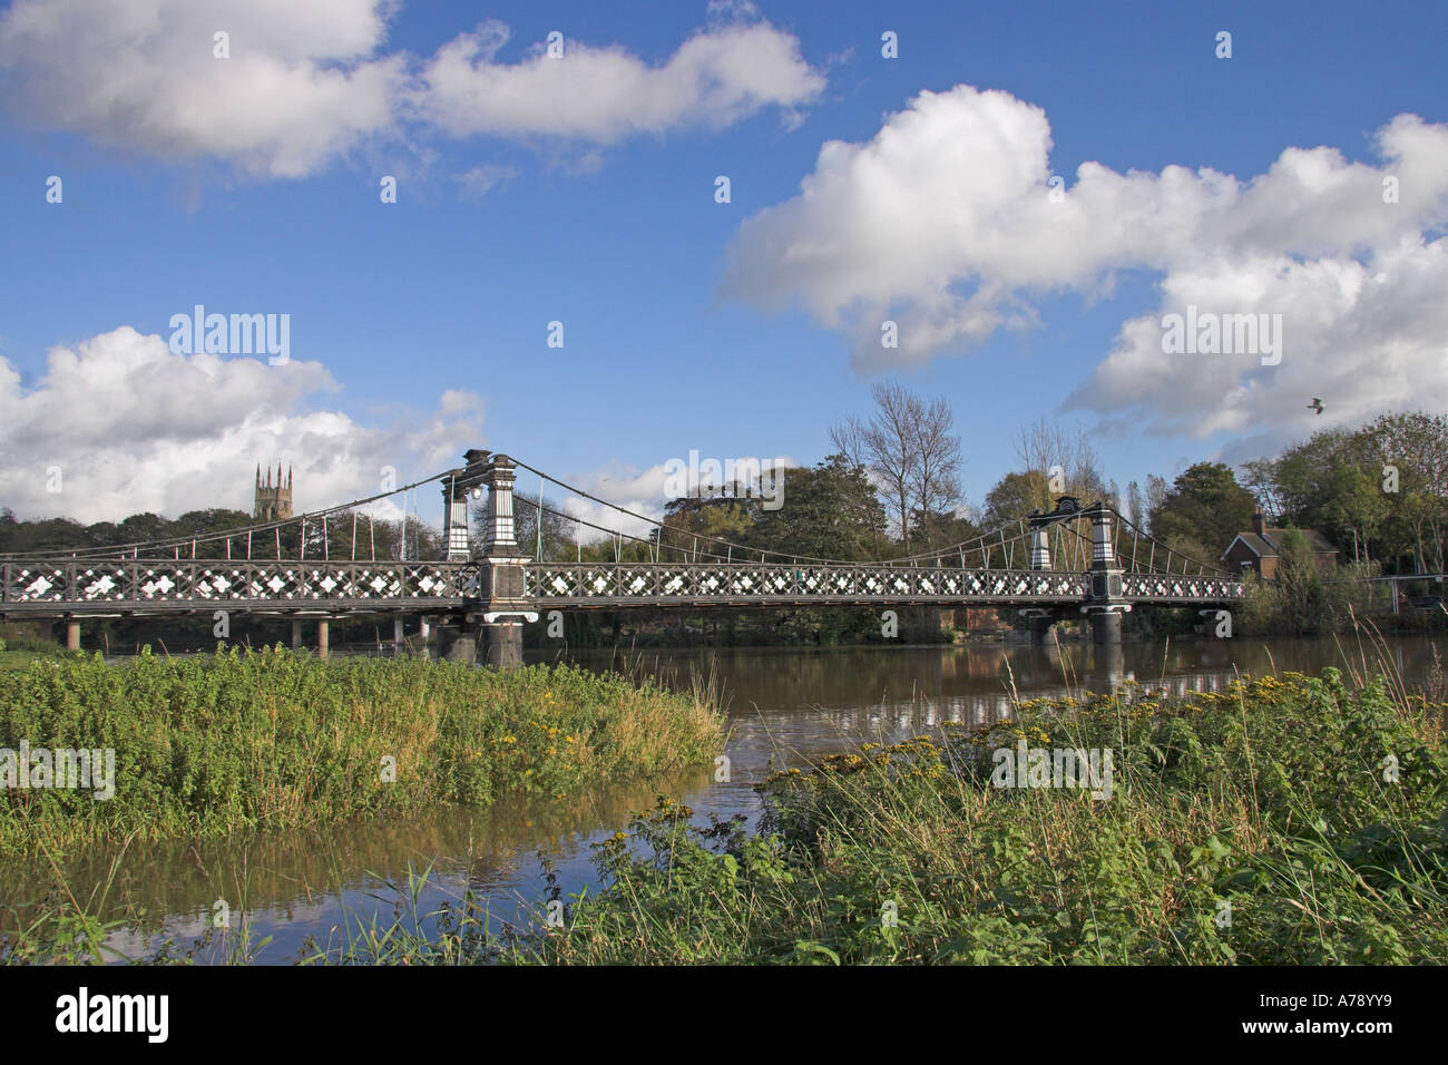
[[[1434,640],[1390,638],[1389,667],[1409,684],[1432,668]],[[1439,653],[1448,640],[1438,639]],[[533,655],[549,661],[555,655]],[[647,651],[571,656],[598,669],[627,665],[666,684],[712,677],[727,701],[728,780],[714,767],[668,780],[601,788],[563,803],[502,801],[489,810],[459,807],[408,820],[369,820],[326,829],[253,835],[226,840],[130,846],[78,853],[64,862],[71,890],[106,919],[132,926],[110,937],[126,956],[140,956],[164,937],[185,949],[211,924],[217,901],[230,927],[245,919],[251,940],[271,937],[255,961],[291,962],[308,936],[337,943],[345,929],[390,924],[414,911],[410,874],[427,871],[416,913],[433,913],[469,887],[488,900],[498,920],[527,920],[546,897],[544,862],[565,893],[598,878],[591,843],[623,829],[631,813],[666,793],[708,814],[760,811],[754,785],[778,768],[804,765],[862,740],[895,742],[931,732],[947,720],[988,724],[1009,716],[1012,697],[1141,685],[1222,690],[1235,675],[1318,672],[1335,665],[1371,674],[1378,655],[1355,638],[1274,640],[1183,640],[1102,649],[973,645],[960,648],[844,648],[804,651]],[[0,865],[0,929],[16,922],[45,893],[39,865]],[[235,943],[235,933],[232,936]],[[211,945],[203,961],[224,958]]]

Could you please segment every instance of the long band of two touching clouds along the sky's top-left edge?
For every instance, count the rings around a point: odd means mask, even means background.
[[[390,0],[16,0],[0,16],[7,109],[39,128],[168,161],[216,158],[255,177],[313,174],[353,148],[408,136],[614,143],[786,114],[824,78],[749,6],[711,12],[662,65],[565,41],[500,62],[488,20],[427,61],[387,51]],[[229,58],[217,58],[216,33]],[[465,184],[476,185],[473,175]]]

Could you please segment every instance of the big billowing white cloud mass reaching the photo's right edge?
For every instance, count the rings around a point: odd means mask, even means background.
[[[1400,114],[1376,148],[1380,165],[1287,148],[1245,181],[1087,162],[1053,196],[1040,107],[970,85],[925,91],[867,143],[825,143],[799,196],[746,220],[721,291],[804,306],[873,371],[1031,327],[1043,294],[1092,297],[1116,271],[1151,271],[1160,307],[1122,323],[1069,406],[1205,436],[1263,420],[1300,429],[1310,396],[1331,410],[1313,426],[1442,404],[1448,126]],[[1281,362],[1166,354],[1161,319],[1190,304],[1281,314]],[[885,320],[898,349],[880,343]]]

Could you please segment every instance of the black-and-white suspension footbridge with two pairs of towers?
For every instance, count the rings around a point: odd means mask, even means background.
[[[421,614],[446,633],[449,658],[475,661],[481,640],[489,665],[514,668],[521,664],[521,626],[549,610],[1014,607],[1032,619],[1034,639],[1044,639],[1057,620],[1085,616],[1093,639],[1109,645],[1121,642],[1121,617],[1135,604],[1221,609],[1242,596],[1242,582],[1231,574],[1170,551],[1109,506],[1083,507],[1072,497],[1060,497],[1053,511],[1034,511],[948,548],[859,562],[695,535],[508,455],[473,449],[463,458],[466,465],[424,481],[285,520],[197,538],[0,556],[0,617],[64,619],[67,643],[80,646],[85,619],[279,614],[292,619],[294,642],[300,623],[314,620],[324,655],[329,620]],[[536,501],[514,494],[520,468],[539,478]],[[433,483],[443,496],[443,558],[376,558],[375,538],[361,538],[359,522],[371,529],[366,507]],[[544,503],[544,484],[649,532],[624,533],[556,510]],[[468,501],[484,491],[475,549]],[[518,543],[515,501],[536,511],[534,545]],[[579,527],[575,559],[544,558],[544,514]],[[611,538],[614,561],[584,559],[582,527]],[[282,556],[284,530],[288,542],[297,533],[297,558]],[[333,556],[333,542],[346,543],[346,558]],[[362,542],[369,543],[366,558],[358,556]]]

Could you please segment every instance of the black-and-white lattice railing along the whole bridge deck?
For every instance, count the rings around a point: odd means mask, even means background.
[[[0,564],[0,613],[61,616],[153,610],[427,610],[476,600],[475,562],[43,561]],[[1229,603],[1224,577],[1124,574],[1144,603]],[[527,564],[524,597],[540,606],[1069,604],[1090,597],[1090,574],[779,564]]]

